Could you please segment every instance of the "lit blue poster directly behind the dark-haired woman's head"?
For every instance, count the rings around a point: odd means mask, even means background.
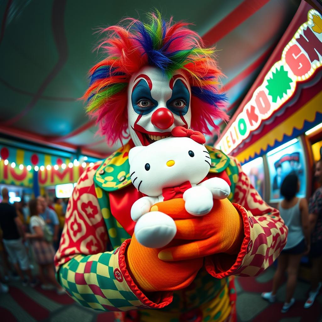
[[[293,143],[294,142],[294,143]],[[267,154],[267,162],[270,171],[270,202],[282,200],[280,187],[284,178],[295,173],[298,176],[300,188],[297,196],[306,196],[306,168],[301,143],[295,139],[286,143],[287,147],[274,150]]]

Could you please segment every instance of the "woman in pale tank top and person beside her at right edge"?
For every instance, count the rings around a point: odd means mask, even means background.
[[[293,294],[303,255],[308,255],[311,262],[311,290],[304,308],[313,305],[322,286],[322,159],[316,164],[314,177],[321,186],[316,189],[309,202],[296,196],[300,183],[295,172],[284,178],[280,188],[284,199],[279,203],[279,212],[289,228],[289,233],[287,243],[278,258],[272,290],[262,293],[262,298],[271,303],[276,301],[276,293],[286,271],[286,298],[281,310],[283,313],[295,303]]]

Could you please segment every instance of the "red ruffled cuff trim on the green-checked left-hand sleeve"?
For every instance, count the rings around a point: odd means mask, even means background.
[[[129,288],[137,297],[137,299],[143,303],[142,308],[144,308],[145,306],[146,308],[164,308],[165,306],[169,305],[172,302],[173,292],[155,292],[161,295],[160,296],[161,303],[159,304],[154,303],[151,300],[149,300],[140,289],[138,289],[132,277],[130,276],[127,270],[126,261],[125,261],[125,251],[128,245],[130,244],[130,242],[131,242],[130,239],[127,239],[125,242],[123,242],[118,252],[118,265],[120,267],[120,270],[124,279],[128,283]]]

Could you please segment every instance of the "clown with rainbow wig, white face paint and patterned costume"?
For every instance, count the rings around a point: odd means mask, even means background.
[[[181,195],[151,211],[175,221],[174,240],[164,248],[137,242],[132,205],[144,195],[131,183],[128,152],[170,136],[177,126],[211,134],[213,120],[227,116],[222,75],[213,49],[188,24],[129,19],[112,26],[101,48],[106,58],[90,70],[87,111],[109,143],[127,143],[88,167],[70,198],[57,278],[82,305],[130,311],[135,321],[235,321],[233,275],[254,276],[278,257],[287,228],[279,212],[251,186],[238,161],[206,147],[210,170],[230,186],[212,212],[189,219]],[[201,220],[202,218],[202,220]],[[131,311],[135,310],[135,311]]]

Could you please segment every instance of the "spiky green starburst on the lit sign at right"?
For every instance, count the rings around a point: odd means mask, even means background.
[[[278,97],[281,99],[287,90],[291,89],[292,80],[287,75],[287,71],[284,71],[284,66],[281,66],[279,70],[276,69],[275,73],[273,72],[272,78],[267,82],[268,94],[272,97],[272,102],[276,103]]]

